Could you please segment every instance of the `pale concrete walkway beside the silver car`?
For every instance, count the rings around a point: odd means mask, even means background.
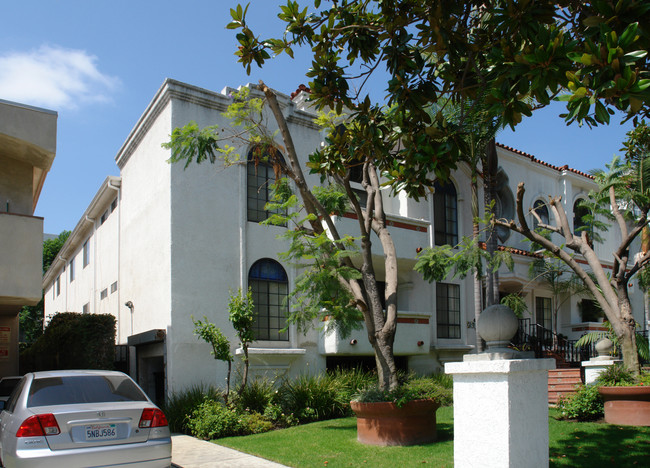
[[[183,434],[172,435],[176,468],[283,468],[284,465]]]

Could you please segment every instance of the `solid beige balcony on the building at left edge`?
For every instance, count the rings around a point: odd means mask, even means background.
[[[0,239],[0,310],[36,304],[43,291],[43,218],[0,213]]]

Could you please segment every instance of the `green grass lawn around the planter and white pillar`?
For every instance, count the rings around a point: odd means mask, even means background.
[[[219,444],[293,467],[453,466],[453,410],[438,410],[438,441],[412,447],[373,447],[357,442],[356,419],[321,421]],[[550,465],[647,466],[650,427],[557,421],[550,413]]]

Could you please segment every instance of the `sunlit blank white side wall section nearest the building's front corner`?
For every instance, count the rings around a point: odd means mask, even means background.
[[[121,167],[118,343],[152,329],[167,331],[171,324],[171,167],[160,147],[170,127],[166,106],[139,141],[129,140],[133,152]]]

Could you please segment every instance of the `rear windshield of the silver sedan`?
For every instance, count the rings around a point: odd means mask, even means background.
[[[34,379],[27,407],[146,401],[147,397],[126,376],[75,375]]]

